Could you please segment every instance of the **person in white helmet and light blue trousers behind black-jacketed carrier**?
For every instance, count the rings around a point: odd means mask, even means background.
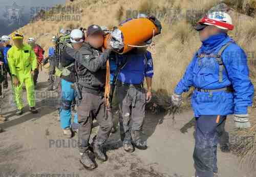
[[[61,98],[62,106],[60,108],[60,125],[63,134],[67,138],[72,137],[72,130],[78,132],[77,112],[74,114],[74,121],[71,123],[71,107],[75,101],[76,92],[74,82],[77,81],[75,59],[70,55],[70,50],[77,50],[83,43],[83,33],[75,29],[71,32],[71,42],[66,43],[62,50],[62,73],[61,73]],[[72,129],[72,130],[71,130]]]

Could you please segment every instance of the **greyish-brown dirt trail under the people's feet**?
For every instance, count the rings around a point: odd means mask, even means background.
[[[48,84],[47,74],[41,72],[39,81],[39,114],[28,113],[26,107],[26,114],[17,117],[15,106],[10,101],[2,104],[3,112],[9,120],[0,124],[5,130],[0,134],[0,176],[6,173],[17,173],[16,176],[194,175],[194,128],[188,129],[186,134],[180,131],[193,117],[191,110],[176,116],[176,124],[173,124],[170,116],[147,114],[144,134],[148,140],[148,149],[144,151],[136,149],[134,153],[125,153],[121,148],[119,131],[111,134],[105,145],[108,161],[101,163],[96,160],[98,168],[87,171],[78,162],[77,135],[72,139],[62,137],[56,110],[57,93],[45,91]],[[227,129],[232,126],[232,119],[228,119]],[[96,131],[95,124],[93,134]],[[238,168],[238,160],[231,153],[218,150],[218,166],[223,177],[249,177]]]

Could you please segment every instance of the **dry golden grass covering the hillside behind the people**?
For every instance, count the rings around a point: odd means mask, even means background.
[[[72,3],[68,2],[66,6],[56,6],[57,8],[66,8],[62,13],[56,10],[42,13],[48,16],[48,19],[37,18],[18,31],[25,35],[25,39],[31,36],[35,37],[37,43],[47,51],[51,45],[51,37],[56,35],[61,28],[73,29],[88,27],[91,24],[112,28],[117,26],[120,20],[134,17],[138,12],[156,15],[162,22],[163,31],[161,35],[156,37],[153,88],[157,93],[170,94],[183,75],[191,57],[200,47],[201,42],[198,39],[197,32],[193,29],[193,25],[207,10],[219,2],[224,2],[231,7],[238,8],[239,11],[244,11],[243,6],[239,8],[241,6],[239,3],[231,3],[240,1],[77,0]],[[246,4],[245,1],[241,2]],[[250,1],[247,1],[247,3],[250,3]],[[69,7],[75,10],[72,13],[67,13]],[[56,19],[61,14],[79,20],[52,21],[50,19],[50,17]],[[239,45],[252,54],[256,50],[256,20],[234,12],[231,12],[231,15],[235,29],[230,32],[230,35]]]

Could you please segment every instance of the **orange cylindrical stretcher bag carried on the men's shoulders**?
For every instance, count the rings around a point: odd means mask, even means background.
[[[117,28],[122,32],[124,46],[121,51],[116,51],[119,54],[129,52],[135,46],[138,46],[142,42],[145,42],[161,33],[160,22],[157,27],[154,21],[150,18],[131,19]],[[110,36],[111,34],[105,36],[104,47],[106,47],[106,41]]]

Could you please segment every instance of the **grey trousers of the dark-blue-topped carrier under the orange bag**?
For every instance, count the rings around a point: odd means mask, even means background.
[[[143,134],[146,97],[142,86],[117,83],[120,134],[123,144],[137,141]]]

